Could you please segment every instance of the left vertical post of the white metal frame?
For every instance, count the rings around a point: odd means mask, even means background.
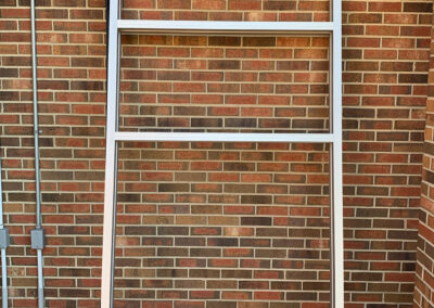
[[[110,0],[108,37],[107,37],[107,107],[105,130],[105,184],[104,184],[104,224],[102,247],[101,273],[101,307],[113,307],[113,279],[114,279],[114,241],[115,241],[115,205],[116,205],[116,175],[117,175],[117,146],[115,131],[117,129],[118,105],[118,57],[119,35],[117,18],[119,15],[119,0]]]

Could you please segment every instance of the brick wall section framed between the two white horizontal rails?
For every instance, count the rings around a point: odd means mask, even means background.
[[[329,130],[328,36],[122,40],[120,130]]]

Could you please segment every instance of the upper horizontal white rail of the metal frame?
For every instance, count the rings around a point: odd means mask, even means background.
[[[117,20],[119,31],[205,33],[205,34],[284,34],[332,33],[331,22],[208,22]]]

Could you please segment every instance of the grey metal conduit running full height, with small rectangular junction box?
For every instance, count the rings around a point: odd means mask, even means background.
[[[41,193],[40,193],[40,167],[39,167],[39,125],[38,125],[38,76],[36,55],[36,23],[35,23],[35,0],[30,0],[31,16],[31,68],[34,90],[34,133],[35,133],[35,184],[36,184],[36,228],[31,230],[31,248],[37,249],[38,258],[38,307],[43,308],[43,259],[42,249],[44,246],[44,229],[41,223]]]

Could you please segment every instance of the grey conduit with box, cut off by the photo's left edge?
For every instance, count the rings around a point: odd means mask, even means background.
[[[3,189],[1,177],[1,157],[0,157],[0,248],[1,248],[1,298],[2,308],[8,308],[8,265],[7,248],[9,246],[9,229],[3,224]]]

